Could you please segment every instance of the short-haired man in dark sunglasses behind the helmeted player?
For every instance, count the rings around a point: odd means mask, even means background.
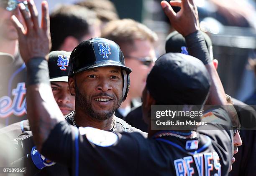
[[[114,20],[102,29],[102,37],[113,40],[120,46],[125,57],[125,65],[133,70],[130,74],[131,86],[126,100],[115,115],[124,118],[131,108],[140,104],[146,77],[154,65],[156,53],[154,43],[157,35],[145,25],[131,19]]]

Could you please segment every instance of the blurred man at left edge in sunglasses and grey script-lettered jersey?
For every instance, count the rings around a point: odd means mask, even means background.
[[[19,53],[18,33],[10,18],[12,15],[23,23],[17,8],[24,0],[0,0],[0,52],[8,53],[14,60],[0,64],[0,124],[9,124],[26,119],[26,65]]]

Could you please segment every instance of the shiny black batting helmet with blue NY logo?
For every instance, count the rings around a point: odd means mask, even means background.
[[[105,38],[85,40],[72,51],[69,58],[69,77],[96,67],[118,66],[123,75],[123,101],[130,87],[131,68],[125,67],[123,53],[118,44]]]

